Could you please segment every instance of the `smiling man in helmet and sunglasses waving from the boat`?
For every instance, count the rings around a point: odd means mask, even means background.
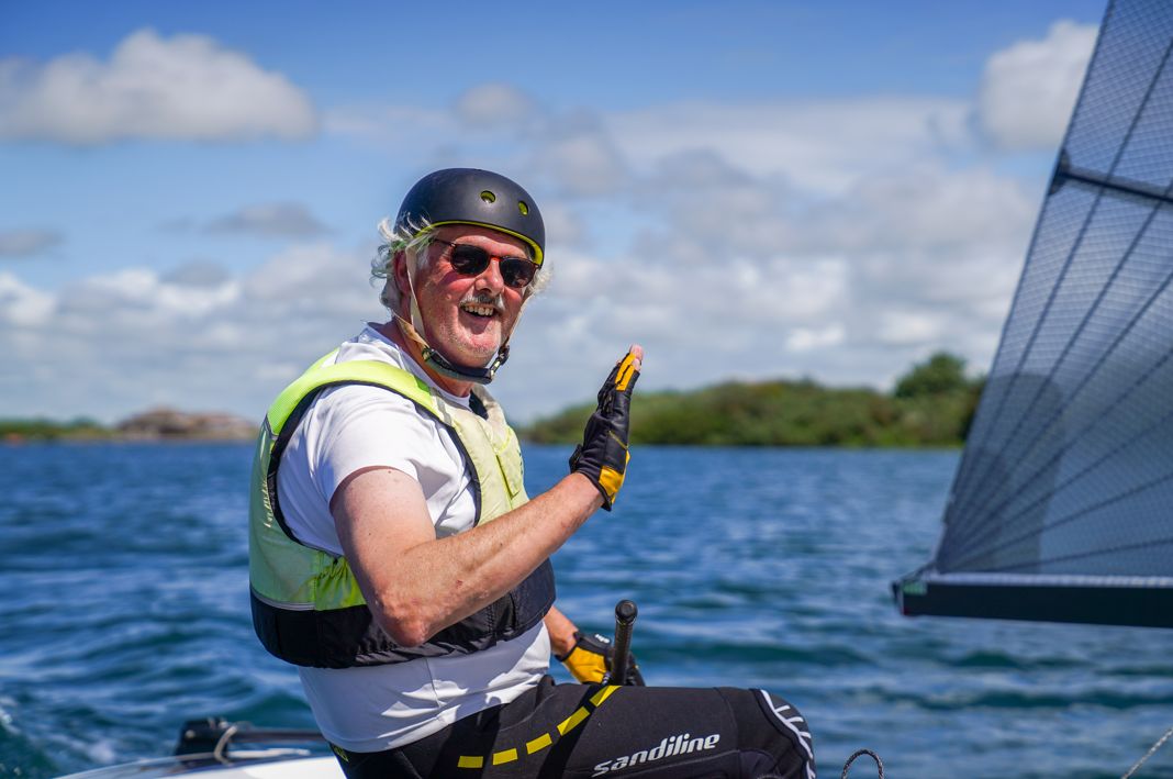
[[[643,350],[608,377],[570,474],[528,500],[483,385],[548,273],[529,194],[440,170],[380,231],[392,318],[278,397],[250,510],[253,625],[299,666],[344,772],[813,777],[781,699],[601,685],[608,646],[552,607],[549,556],[623,486]],[[588,684],[555,685],[551,651]]]

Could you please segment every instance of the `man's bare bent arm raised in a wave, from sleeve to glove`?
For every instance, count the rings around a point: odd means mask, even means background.
[[[369,468],[343,481],[331,513],[375,621],[416,646],[508,592],[602,504],[595,483],[571,473],[491,522],[436,538],[419,482]]]

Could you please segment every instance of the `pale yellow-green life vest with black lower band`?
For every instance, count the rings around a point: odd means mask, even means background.
[[[346,558],[307,547],[290,531],[277,497],[282,454],[318,393],[345,384],[402,395],[448,428],[472,477],[476,524],[528,500],[517,436],[483,388],[473,390],[470,402],[481,407],[481,416],[446,401],[408,371],[378,360],[334,363],[335,354],[318,360],[277,397],[258,436],[249,506],[249,583],[260,643],[296,665],[350,668],[475,652],[536,625],[554,603],[548,560],[476,614],[419,646],[400,646],[374,622]]]

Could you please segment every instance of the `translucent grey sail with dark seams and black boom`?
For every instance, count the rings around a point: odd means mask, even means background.
[[[904,614],[1173,626],[1171,49],[1108,7]]]

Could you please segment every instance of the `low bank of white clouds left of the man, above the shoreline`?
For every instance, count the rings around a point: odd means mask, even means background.
[[[319,244],[218,279],[130,267],[50,293],[0,273],[0,353],[16,387],[6,402],[56,416],[160,402],[258,415],[314,355],[382,316],[367,267]]]

